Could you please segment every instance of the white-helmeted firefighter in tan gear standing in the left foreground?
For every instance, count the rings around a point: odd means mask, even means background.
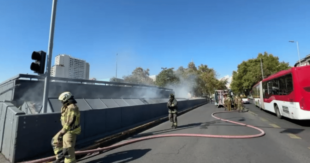
[[[70,92],[63,92],[58,97],[61,107],[61,125],[63,128],[52,138],[52,147],[56,155],[53,163],[75,163],[75,141],[81,133],[80,111],[77,101]]]

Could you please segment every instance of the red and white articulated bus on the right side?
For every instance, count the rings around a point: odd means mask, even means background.
[[[252,88],[253,102],[278,118],[310,119],[310,65],[268,76]]]

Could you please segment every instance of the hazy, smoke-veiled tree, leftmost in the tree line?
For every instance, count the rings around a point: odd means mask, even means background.
[[[153,80],[149,77],[149,71],[149,69],[143,70],[142,67],[137,67],[131,73],[131,75],[123,76],[124,82],[133,84],[153,85]]]

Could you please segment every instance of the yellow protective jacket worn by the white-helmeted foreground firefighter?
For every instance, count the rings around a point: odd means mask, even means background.
[[[61,108],[62,133],[81,134],[80,110],[76,104],[64,105]]]

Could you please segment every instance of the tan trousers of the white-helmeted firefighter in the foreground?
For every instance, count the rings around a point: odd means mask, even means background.
[[[75,141],[76,134],[66,133],[63,135],[63,141],[58,141],[60,131],[52,138],[52,147],[56,155],[57,162],[75,163]]]

